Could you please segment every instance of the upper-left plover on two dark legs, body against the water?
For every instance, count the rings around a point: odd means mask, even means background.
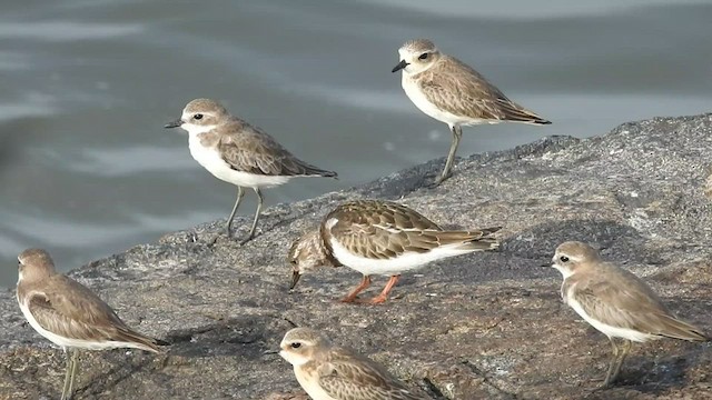
[[[237,186],[237,200],[227,219],[227,237],[233,219],[245,194],[251,188],[257,194],[257,211],[243,243],[255,237],[263,209],[261,188],[273,188],[295,177],[336,178],[336,172],[318,169],[294,157],[273,137],[230,113],[215,100],[196,99],[182,116],[165,128],[182,128],[188,132],[190,154],[217,179]]]

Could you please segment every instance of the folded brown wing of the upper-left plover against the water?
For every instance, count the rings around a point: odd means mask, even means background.
[[[335,172],[299,160],[259,128],[240,120],[230,122],[230,127],[233,133],[221,136],[217,147],[222,160],[236,171],[273,177],[336,177]]]

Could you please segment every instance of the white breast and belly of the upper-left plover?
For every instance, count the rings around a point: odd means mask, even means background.
[[[228,183],[246,188],[271,188],[286,183],[293,177],[263,176],[249,172],[236,171],[222,160],[215,148],[207,148],[200,143],[200,139],[191,136],[188,139],[190,156],[200,166],[207,169],[215,178]]]

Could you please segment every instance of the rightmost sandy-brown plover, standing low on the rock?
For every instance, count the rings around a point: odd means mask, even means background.
[[[603,387],[615,381],[632,342],[661,338],[710,340],[700,328],[681,321],[653,290],[633,273],[601,259],[591,246],[570,241],[556,248],[553,268],[564,277],[564,302],[613,346]],[[623,339],[619,348],[614,338]]]

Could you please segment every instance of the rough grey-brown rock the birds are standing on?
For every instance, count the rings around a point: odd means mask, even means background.
[[[290,367],[263,356],[294,326],[372,356],[433,399],[712,398],[712,344],[676,340],[635,346],[619,386],[595,391],[611,347],[562,303],[558,272],[540,267],[562,241],[595,243],[712,332],[711,160],[712,116],[657,118],[475,154],[437,189],[424,183],[443,160],[274,207],[243,247],[209,246],[216,221],[96,261],[71,276],[174,344],[160,356],[82,352],[77,399],[303,399]],[[502,224],[502,249],[407,274],[384,306],[335,302],[360,279],[346,268],[305,276],[290,293],[291,240],[359,197],[399,200],[447,227]],[[236,226],[244,234],[248,220]],[[58,398],[61,350],[23,323],[13,292],[0,293],[0,398]]]

